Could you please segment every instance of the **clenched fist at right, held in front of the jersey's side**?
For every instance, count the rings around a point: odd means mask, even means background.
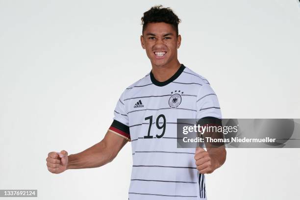
[[[218,168],[217,161],[203,148],[196,148],[195,160],[201,174],[210,174]]]

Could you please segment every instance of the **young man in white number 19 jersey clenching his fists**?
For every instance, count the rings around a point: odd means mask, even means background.
[[[222,116],[209,82],[177,59],[179,22],[170,8],[154,6],[144,13],[141,45],[151,72],[125,89],[100,143],[72,155],[65,150],[49,153],[51,173],[100,167],[131,141],[129,200],[206,199],[204,174],[225,162],[225,148],[177,148],[176,123],[180,118]]]

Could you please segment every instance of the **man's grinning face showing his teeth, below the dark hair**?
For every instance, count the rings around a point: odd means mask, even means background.
[[[181,36],[176,36],[172,25],[164,22],[149,23],[141,35],[141,44],[152,66],[175,64]]]

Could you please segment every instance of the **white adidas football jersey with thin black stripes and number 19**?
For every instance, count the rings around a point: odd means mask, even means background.
[[[129,200],[205,200],[195,149],[177,148],[177,119],[222,119],[209,82],[181,64],[159,82],[150,72],[122,93],[109,131],[131,141]]]

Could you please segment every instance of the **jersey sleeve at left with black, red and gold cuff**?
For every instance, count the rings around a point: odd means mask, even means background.
[[[130,141],[129,123],[128,116],[125,109],[124,102],[124,92],[122,93],[120,99],[114,110],[113,122],[110,125],[108,131],[123,137],[124,139]]]

